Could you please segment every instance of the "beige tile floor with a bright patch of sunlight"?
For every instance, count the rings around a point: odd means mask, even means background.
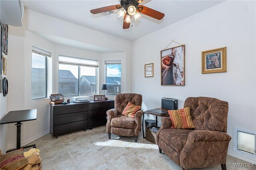
[[[142,132],[138,142],[134,141],[134,137],[114,134],[109,140],[106,126],[101,126],[58,138],[49,133],[31,144],[34,143],[40,150],[43,170],[182,170],[163,152],[160,154],[157,145],[143,139]],[[228,156],[227,169],[237,170],[234,163],[245,162]],[[203,169],[221,170],[221,166]]]

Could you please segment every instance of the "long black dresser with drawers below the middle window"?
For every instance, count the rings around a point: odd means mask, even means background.
[[[106,111],[114,108],[114,100],[50,105],[50,132],[60,134],[106,125]]]

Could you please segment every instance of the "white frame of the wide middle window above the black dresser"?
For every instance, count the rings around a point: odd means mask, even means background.
[[[58,55],[59,57],[68,57],[68,58],[76,58],[76,59],[84,59],[84,60],[92,60],[92,61],[97,61],[94,59],[86,59],[86,58],[81,58],[81,57],[72,57],[72,56],[67,56],[67,55]],[[90,95],[96,95],[98,93],[98,65],[90,65],[90,64],[78,64],[78,63],[72,63],[68,61],[59,61],[58,64],[62,65],[75,65],[78,66],[78,95],[64,95],[65,97],[70,97],[70,96],[90,96]],[[58,65],[58,73],[59,73],[59,65]],[[81,69],[80,67],[93,67],[95,68],[95,94],[85,94],[85,95],[80,95],[80,76],[81,76]],[[58,80],[58,93],[59,93],[59,80]]]

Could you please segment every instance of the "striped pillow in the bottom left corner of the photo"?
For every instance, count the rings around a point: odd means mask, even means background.
[[[0,156],[0,170],[22,170],[28,165],[24,149],[14,150]]]

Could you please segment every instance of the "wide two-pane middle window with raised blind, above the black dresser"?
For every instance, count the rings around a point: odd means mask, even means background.
[[[64,96],[97,93],[98,60],[59,55],[58,93]]]

